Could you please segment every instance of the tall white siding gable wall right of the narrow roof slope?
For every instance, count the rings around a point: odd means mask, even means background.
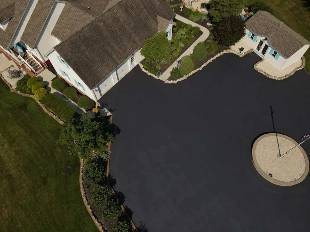
[[[51,32],[55,27],[55,24],[61,14],[61,11],[64,9],[64,6],[65,3],[55,2],[36,43],[36,47],[43,56],[44,61],[48,60],[48,58],[45,57],[45,54],[47,54],[47,52],[49,52],[54,46],[59,44],[59,40],[52,36]]]

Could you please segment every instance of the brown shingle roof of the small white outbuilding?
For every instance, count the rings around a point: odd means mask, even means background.
[[[258,36],[268,38],[274,49],[286,58],[289,58],[304,45],[310,42],[297,32],[281,25],[281,21],[266,11],[258,11],[247,22],[246,27]]]

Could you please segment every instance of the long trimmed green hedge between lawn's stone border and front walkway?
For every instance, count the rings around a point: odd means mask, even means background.
[[[75,110],[52,93],[45,95],[42,99],[42,103],[64,121],[72,118],[73,114],[76,113]]]

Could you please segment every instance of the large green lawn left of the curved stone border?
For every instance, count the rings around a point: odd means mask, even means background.
[[[60,125],[0,79],[0,231],[97,231]]]

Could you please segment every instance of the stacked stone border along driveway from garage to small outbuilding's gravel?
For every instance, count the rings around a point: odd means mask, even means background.
[[[244,53],[239,54],[239,53],[237,53],[237,52],[235,52],[235,51],[232,51],[231,49],[224,50],[224,51],[222,51],[222,52],[216,54],[214,57],[210,58],[209,60],[207,60],[207,62],[204,63],[203,65],[201,65],[201,67],[199,67],[199,68],[197,68],[196,70],[190,72],[188,75],[185,75],[185,76],[183,76],[183,77],[181,77],[181,78],[179,78],[179,79],[177,79],[177,80],[165,80],[165,83],[168,83],[168,84],[176,84],[176,83],[178,83],[179,81],[185,80],[185,79],[187,79],[190,75],[193,75],[193,74],[196,73],[197,71],[200,71],[200,70],[201,70],[203,67],[205,67],[208,63],[212,62],[213,60],[215,60],[216,58],[218,58],[219,56],[221,56],[221,55],[223,55],[223,54],[225,54],[225,53],[233,53],[233,54],[236,54],[237,56],[243,57],[243,56],[245,56],[246,54],[249,54],[249,53],[251,53],[251,52],[253,52],[253,51],[254,51],[254,49],[250,49],[250,50],[248,50],[248,51],[246,51],[246,52],[244,52]],[[150,75],[150,76],[153,76],[154,78],[158,79],[158,77],[157,77],[156,75],[154,75],[154,74],[152,74],[152,73],[146,71],[141,63],[139,63],[139,66],[140,66],[141,70],[144,71],[146,74],[148,74],[148,75]]]

